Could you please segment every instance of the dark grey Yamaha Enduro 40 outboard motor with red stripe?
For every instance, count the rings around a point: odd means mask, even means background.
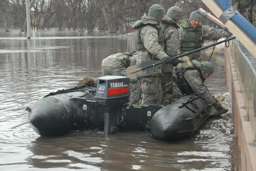
[[[100,77],[95,101],[104,111],[104,135],[117,132],[119,128],[119,112],[129,102],[130,82],[125,76],[108,75]]]

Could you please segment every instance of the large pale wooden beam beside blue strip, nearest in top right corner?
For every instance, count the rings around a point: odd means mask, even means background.
[[[214,13],[216,17],[220,17],[223,10],[213,0],[202,0],[202,2]],[[232,31],[233,35],[243,44],[243,46],[256,58],[256,43],[232,20],[228,20],[226,27]]]

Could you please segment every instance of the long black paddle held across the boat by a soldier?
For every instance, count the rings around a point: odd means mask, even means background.
[[[216,43],[212,43],[212,44],[204,46],[202,48],[195,49],[195,50],[192,50],[190,52],[180,54],[178,56],[173,57],[172,59],[177,59],[177,58],[180,58],[182,56],[186,56],[186,55],[189,55],[191,53],[194,53],[194,52],[197,52],[197,51],[200,51],[200,50],[203,50],[203,49],[210,48],[210,47],[215,46],[217,44],[221,44],[221,43],[227,42],[229,40],[233,40],[235,38],[236,37],[230,37],[228,39],[225,39],[225,40],[222,40],[222,41],[219,41],[219,42],[216,42]],[[146,61],[146,62],[142,62],[140,64],[129,66],[126,69],[126,74],[127,74],[127,77],[130,78],[130,79],[138,78],[138,77],[141,77],[141,76],[143,76],[145,74],[151,73],[152,71],[155,71],[162,64],[163,64],[163,61]]]

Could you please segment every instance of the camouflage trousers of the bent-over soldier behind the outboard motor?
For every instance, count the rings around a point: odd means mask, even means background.
[[[122,76],[127,76],[126,74],[126,69],[116,69],[116,68],[111,68],[107,66],[102,66],[102,74],[101,76],[106,76],[106,75],[122,75]],[[139,105],[139,100],[140,100],[140,80],[138,78],[135,79],[129,79],[130,81],[130,100],[129,100],[129,105]]]

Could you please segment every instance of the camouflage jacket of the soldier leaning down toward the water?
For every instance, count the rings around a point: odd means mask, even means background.
[[[201,63],[199,63],[199,64],[201,65]],[[177,66],[179,67],[179,65],[181,65],[181,64],[178,64]],[[177,79],[178,78],[177,74],[180,74],[180,73],[176,73],[177,66],[173,70],[173,81],[175,83],[177,83],[177,85],[179,87],[179,84],[180,84],[179,82],[181,80],[178,81],[178,79]],[[182,84],[182,87],[181,88],[179,87],[179,88],[181,89],[182,94],[195,93],[195,95],[201,97],[204,101],[206,101],[206,103],[209,106],[211,106],[211,105],[215,104],[216,101],[212,98],[212,95],[208,92],[206,87],[203,86],[203,82],[206,78],[204,76],[202,69],[200,70],[201,67],[199,66],[199,68],[196,69],[198,64],[195,66],[196,67],[188,67],[188,68],[184,69],[184,73],[183,73],[182,77],[184,78],[183,81],[185,82],[185,84]],[[182,90],[184,90],[186,92],[184,92]]]

